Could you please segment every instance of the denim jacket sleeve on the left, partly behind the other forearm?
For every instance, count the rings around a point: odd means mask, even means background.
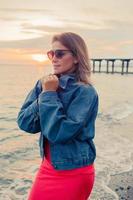
[[[38,96],[42,91],[40,80],[27,95],[17,116],[17,124],[20,129],[28,133],[40,132],[40,119]]]

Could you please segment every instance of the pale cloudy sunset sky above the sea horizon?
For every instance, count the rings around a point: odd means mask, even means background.
[[[86,42],[90,58],[133,58],[132,0],[0,0],[0,64],[47,64],[56,33]]]

